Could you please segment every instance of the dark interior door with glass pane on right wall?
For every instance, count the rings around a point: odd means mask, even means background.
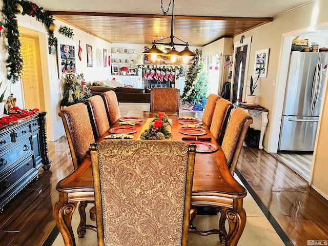
[[[238,47],[236,50],[236,57],[235,57],[235,74],[234,74],[232,103],[236,103],[237,100],[242,101],[246,57],[247,57],[247,45]]]

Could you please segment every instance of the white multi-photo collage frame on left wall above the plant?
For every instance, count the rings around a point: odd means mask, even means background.
[[[57,40],[58,44],[58,75],[61,79],[63,74],[75,72],[76,70],[76,43],[71,40],[60,39]]]

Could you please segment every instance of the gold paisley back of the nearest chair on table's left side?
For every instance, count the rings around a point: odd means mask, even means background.
[[[83,103],[66,107],[59,112],[70,147],[74,169],[83,161],[89,145],[95,142],[87,106]]]

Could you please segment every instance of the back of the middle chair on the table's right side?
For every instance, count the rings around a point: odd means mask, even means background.
[[[213,134],[219,145],[222,144],[224,133],[226,132],[230,112],[233,109],[233,104],[226,99],[219,99],[216,102],[213,113],[210,132]]]

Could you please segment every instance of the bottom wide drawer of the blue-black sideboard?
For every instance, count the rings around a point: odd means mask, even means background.
[[[6,176],[0,178],[0,200],[7,194],[14,192],[23,186],[26,180],[37,175],[37,170],[33,167],[33,159],[30,157],[24,163],[20,163],[12,169]]]

